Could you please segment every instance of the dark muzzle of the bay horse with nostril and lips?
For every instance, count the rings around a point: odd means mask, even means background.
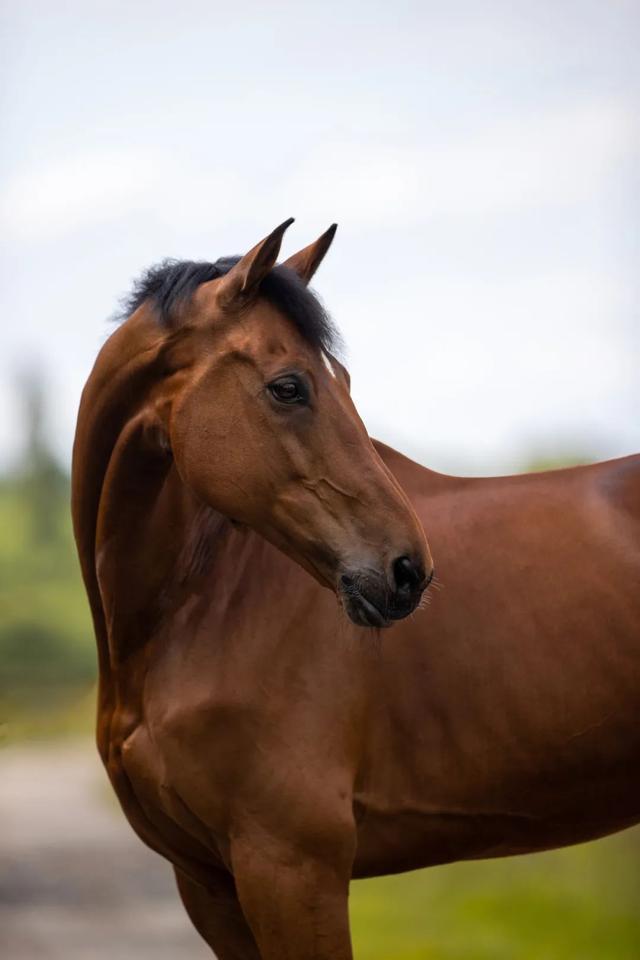
[[[393,562],[388,577],[370,568],[341,574],[338,589],[353,623],[390,627],[413,613],[432,578],[433,570],[426,574],[420,561],[403,556]]]

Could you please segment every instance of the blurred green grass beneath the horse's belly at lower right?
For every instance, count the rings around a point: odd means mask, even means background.
[[[357,960],[638,960],[640,830],[351,888]]]

